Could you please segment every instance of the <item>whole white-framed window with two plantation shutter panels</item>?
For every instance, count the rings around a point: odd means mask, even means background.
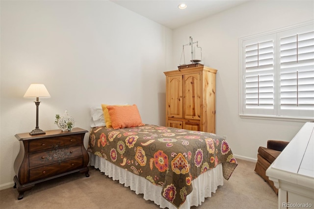
[[[313,22],[239,44],[240,115],[314,119]]]

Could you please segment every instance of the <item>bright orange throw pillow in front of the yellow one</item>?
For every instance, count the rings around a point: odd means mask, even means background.
[[[144,126],[135,104],[129,106],[107,105],[113,129]]]

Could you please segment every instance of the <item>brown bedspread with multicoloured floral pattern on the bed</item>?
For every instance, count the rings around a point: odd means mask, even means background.
[[[228,180],[237,165],[222,137],[157,125],[95,127],[87,151],[162,186],[161,195],[177,208],[191,193],[193,179],[222,163]]]

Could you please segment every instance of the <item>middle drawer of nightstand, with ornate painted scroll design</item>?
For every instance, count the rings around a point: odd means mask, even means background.
[[[53,162],[61,162],[68,158],[82,156],[82,148],[80,145],[74,147],[66,147],[57,150],[50,150],[42,153],[29,155],[29,167],[43,165]]]

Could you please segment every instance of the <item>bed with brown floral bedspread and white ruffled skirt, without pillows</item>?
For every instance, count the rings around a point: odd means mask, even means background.
[[[237,165],[221,136],[139,122],[118,129],[94,124],[87,149],[90,164],[160,208],[201,205]]]

